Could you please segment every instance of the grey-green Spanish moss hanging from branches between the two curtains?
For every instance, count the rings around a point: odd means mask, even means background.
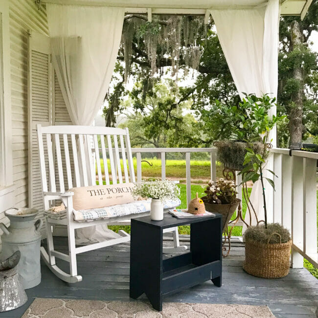
[[[147,68],[146,64],[149,63],[148,69],[153,77],[156,74],[162,76],[163,68],[169,66],[172,76],[177,79],[181,60],[185,76],[189,69],[199,68],[202,53],[200,41],[205,38],[205,33],[202,17],[155,15],[150,23],[145,15],[126,16],[122,35],[125,82],[130,75],[134,39],[138,44],[138,57],[148,61],[144,61],[142,68]]]

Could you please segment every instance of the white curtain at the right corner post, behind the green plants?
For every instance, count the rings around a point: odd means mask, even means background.
[[[250,9],[211,10],[220,44],[227,64],[241,96],[268,93],[277,96],[278,83],[278,31],[279,0],[269,0],[267,5]],[[276,114],[273,106],[271,114]],[[273,146],[276,146],[276,129],[271,132]],[[273,170],[273,159],[269,158],[267,168]],[[273,178],[272,175],[268,176]],[[267,203],[273,202],[273,189],[266,184]],[[255,182],[250,195],[259,220],[264,220],[261,182]],[[273,222],[273,205],[267,204],[268,220]],[[250,224],[247,211],[245,220]],[[256,218],[251,213],[251,224]],[[246,226],[243,227],[243,232]]]

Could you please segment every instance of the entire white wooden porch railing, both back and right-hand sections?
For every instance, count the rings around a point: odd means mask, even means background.
[[[186,168],[186,197],[191,200],[191,153],[210,154],[210,178],[216,180],[216,148],[132,148],[136,154],[137,181],[142,179],[141,154],[160,153],[161,179],[166,178],[167,153],[184,153]],[[269,220],[282,224],[291,231],[292,267],[302,268],[303,258],[318,267],[317,253],[317,160],[318,153],[273,148],[273,171],[275,191],[268,196]],[[238,197],[242,199],[241,177],[237,175]],[[237,222],[236,226],[243,223]]]

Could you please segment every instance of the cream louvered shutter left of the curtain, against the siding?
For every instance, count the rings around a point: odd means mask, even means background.
[[[32,32],[29,37],[28,57],[28,205],[39,209],[38,218],[40,218],[43,217],[44,204],[36,134],[37,124],[43,126],[51,124],[50,42],[47,36]],[[44,227],[42,232],[44,233]]]

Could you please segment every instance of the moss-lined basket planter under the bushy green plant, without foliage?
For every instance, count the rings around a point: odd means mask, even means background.
[[[244,168],[244,158],[248,143],[244,141],[223,140],[215,141],[214,146],[218,148],[218,159],[226,169],[240,171]],[[261,142],[251,143],[251,147],[255,154],[264,152],[264,144]]]

